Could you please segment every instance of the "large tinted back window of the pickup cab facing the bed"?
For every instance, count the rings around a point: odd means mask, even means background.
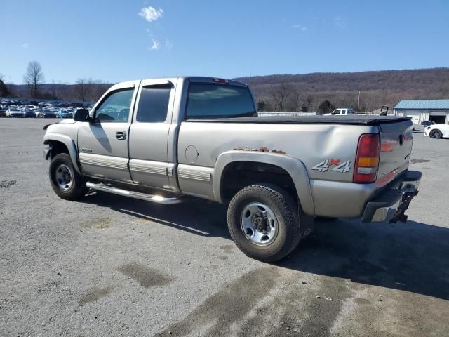
[[[191,83],[186,119],[257,116],[253,97],[245,86]]]

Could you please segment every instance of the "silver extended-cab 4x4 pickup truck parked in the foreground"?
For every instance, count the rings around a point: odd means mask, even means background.
[[[264,261],[293,251],[317,216],[406,222],[421,178],[408,171],[410,119],[257,117],[248,86],[227,79],[123,82],[44,129],[59,197],[226,203],[234,242]]]

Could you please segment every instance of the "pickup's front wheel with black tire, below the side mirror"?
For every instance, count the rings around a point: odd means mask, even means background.
[[[60,176],[64,175],[66,170],[69,172],[70,179],[65,180],[67,183],[62,187],[64,180],[61,180]],[[48,174],[51,187],[58,194],[58,197],[66,200],[78,200],[86,195],[88,190],[86,182],[74,169],[69,154],[60,153],[51,159]],[[67,174],[65,176],[67,177]]]

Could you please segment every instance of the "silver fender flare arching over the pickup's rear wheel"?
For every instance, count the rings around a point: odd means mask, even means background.
[[[223,152],[218,156],[213,174],[213,194],[217,201],[223,202],[221,183],[222,175],[226,167],[236,161],[253,161],[264,164],[272,164],[284,169],[292,178],[302,206],[302,211],[308,215],[314,215],[314,198],[311,193],[309,175],[306,166],[300,159],[285,154],[270,152],[232,150]]]

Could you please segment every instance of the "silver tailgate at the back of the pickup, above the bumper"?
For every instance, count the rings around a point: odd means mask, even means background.
[[[380,161],[377,180],[388,183],[398,173],[408,169],[412,152],[412,121],[393,121],[382,123],[380,128]]]

